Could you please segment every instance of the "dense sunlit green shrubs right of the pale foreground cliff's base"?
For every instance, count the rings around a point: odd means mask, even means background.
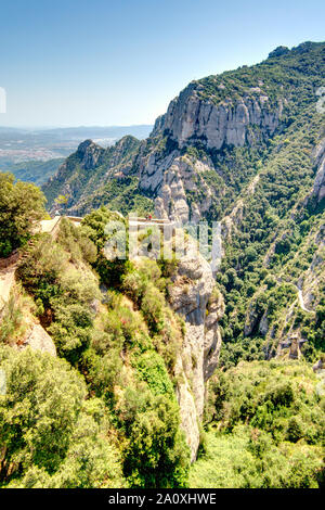
[[[325,382],[306,362],[242,361],[209,383],[193,487],[324,485]]]

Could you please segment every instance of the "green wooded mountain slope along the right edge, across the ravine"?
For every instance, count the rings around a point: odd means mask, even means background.
[[[225,366],[240,357],[273,356],[280,341],[295,333],[309,341],[303,349],[310,360],[325,349],[324,255],[317,242],[324,201],[310,196],[315,175],[311,152],[323,136],[321,118],[307,111],[301,124],[286,131],[285,143],[281,137],[273,140],[253,193],[244,195],[242,218],[224,241],[217,280],[227,296]],[[297,298],[304,281],[311,313]]]

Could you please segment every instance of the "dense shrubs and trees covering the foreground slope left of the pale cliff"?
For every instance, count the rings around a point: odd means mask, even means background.
[[[12,304],[9,318],[16,317],[22,335],[25,318],[38,316],[65,361],[2,347],[2,485],[186,485],[188,450],[173,388],[182,322],[167,305],[155,262],[102,256],[114,217],[100,209],[79,229],[63,220],[56,242],[39,235],[20,265],[21,292],[30,297]],[[12,344],[6,317],[3,324],[2,343]]]

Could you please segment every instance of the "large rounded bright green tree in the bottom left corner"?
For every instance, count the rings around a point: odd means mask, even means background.
[[[121,485],[118,455],[107,441],[105,410],[84,400],[81,375],[65,360],[0,348],[6,391],[0,395],[0,485]]]

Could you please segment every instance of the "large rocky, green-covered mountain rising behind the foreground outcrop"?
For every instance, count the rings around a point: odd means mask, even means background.
[[[72,213],[222,221],[225,365],[324,350],[324,43],[280,47],[191,82],[117,163],[126,139],[109,157],[84,142],[44,187]]]

